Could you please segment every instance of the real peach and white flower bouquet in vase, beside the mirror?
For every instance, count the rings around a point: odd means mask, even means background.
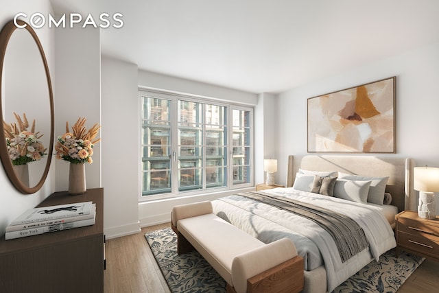
[[[55,146],[56,159],[80,164],[93,163],[93,146],[101,139],[95,139],[101,126],[99,124],[93,125],[88,131],[84,124],[85,118],[79,118],[75,125],[69,130],[69,122],[66,122],[66,133],[57,138]]]

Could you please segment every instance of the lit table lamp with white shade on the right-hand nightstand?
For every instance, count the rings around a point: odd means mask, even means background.
[[[419,218],[435,220],[436,202],[434,192],[439,192],[439,168],[414,167],[413,188],[419,191]]]

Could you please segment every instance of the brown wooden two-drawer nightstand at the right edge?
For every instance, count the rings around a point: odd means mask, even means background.
[[[401,211],[396,218],[396,255],[399,250],[439,261],[439,217],[425,220],[415,211]]]

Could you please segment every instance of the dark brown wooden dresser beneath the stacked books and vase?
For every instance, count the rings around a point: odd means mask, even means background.
[[[38,207],[93,201],[93,226],[0,239],[0,292],[104,292],[104,189],[56,192]]]

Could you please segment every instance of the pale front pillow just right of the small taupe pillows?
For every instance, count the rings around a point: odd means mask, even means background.
[[[336,198],[351,200],[353,202],[367,203],[370,181],[337,179],[334,186]]]

